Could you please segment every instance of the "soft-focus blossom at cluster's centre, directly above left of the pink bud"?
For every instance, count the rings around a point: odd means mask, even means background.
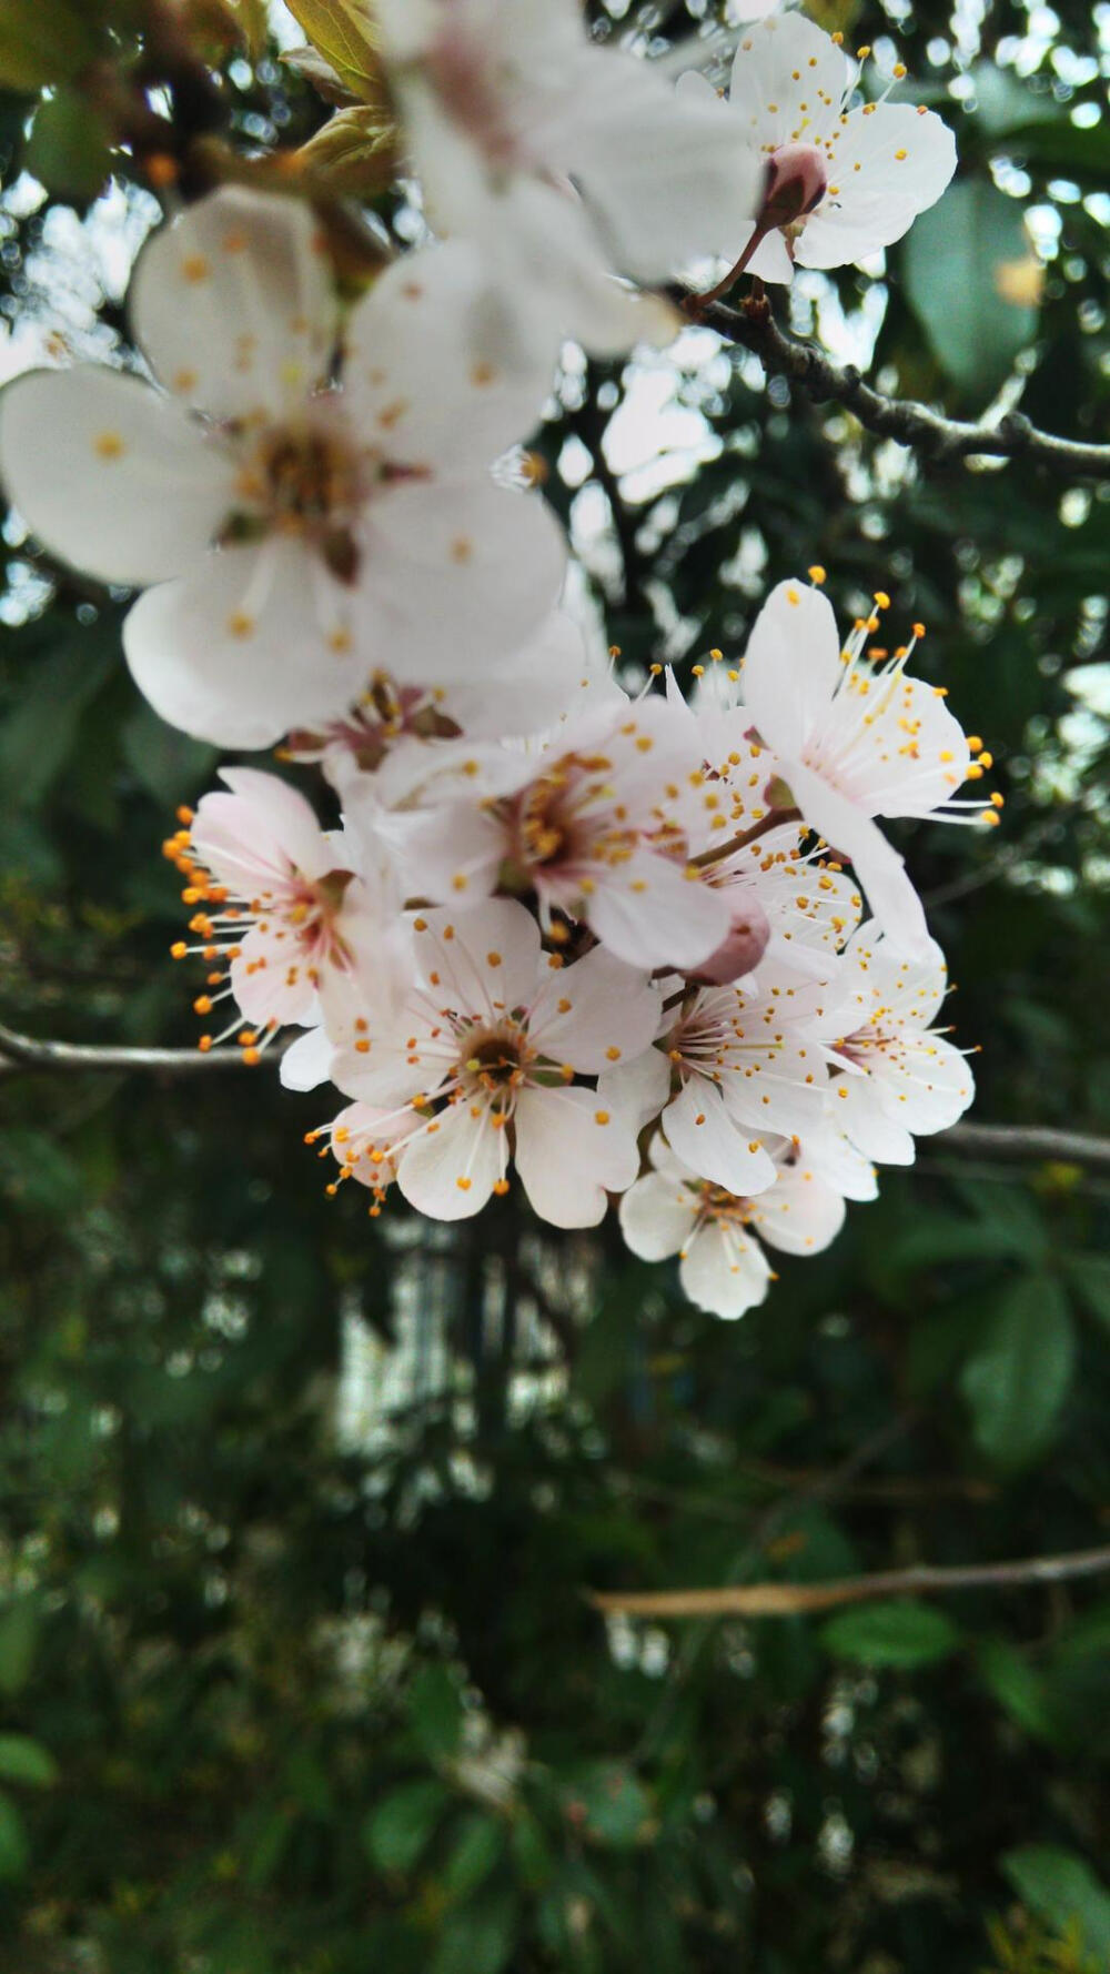
[[[731,914],[666,817],[668,788],[695,766],[687,722],[664,699],[602,707],[535,758],[488,762],[470,801],[397,817],[409,888],[433,900],[533,892],[545,924],[581,920],[630,965],[697,965]]]

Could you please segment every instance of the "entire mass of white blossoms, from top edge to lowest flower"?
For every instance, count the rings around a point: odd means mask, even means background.
[[[788,278],[897,239],[952,140],[851,107],[798,16],[745,32],[729,103],[593,45],[575,0],[377,18],[438,243],[344,304],[304,203],[209,193],[136,268],[156,381],[20,377],[0,464],[47,549],[140,590],[150,705],[278,744],[332,809],[237,766],[182,811],[201,1048],[284,1036],[284,1082],[342,1094],[310,1137],[371,1214],[397,1186],[454,1220],[514,1175],[559,1228],[620,1198],[628,1246],[735,1317],[764,1244],[824,1248],[875,1163],[966,1109],[881,823],[997,821],[1001,797],[960,794],[990,756],[912,673],[920,626],[879,647],[877,592],[841,638],[818,569],[687,693],[620,679],[561,608],[519,446],[565,336],[666,342],[644,284],[721,251],[727,278]]]

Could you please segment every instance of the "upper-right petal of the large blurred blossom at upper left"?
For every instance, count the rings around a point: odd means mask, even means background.
[[[498,367],[482,334],[488,276],[474,247],[405,255],[377,276],[346,332],[344,391],[391,460],[476,472],[539,424],[541,359]]]

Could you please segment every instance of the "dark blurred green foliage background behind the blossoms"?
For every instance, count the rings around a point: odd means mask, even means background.
[[[709,14],[593,6],[660,43]],[[907,59],[962,166],[784,320],[899,395],[1104,438],[1110,12],[820,18]],[[203,126],[267,152],[328,116],[259,6],[6,0],[4,373],[128,355],[156,205],[107,144],[166,20],[186,180]],[[399,191],[375,213],[413,235]],[[814,561],[926,620],[1005,792],[988,837],[899,837],[976,1117],[1108,1133],[1110,484],[918,470],[695,332],[569,363],[535,444],[630,667],[735,649]],[[0,1019],[188,1046],[158,847],[217,756],[140,705],[120,598],[18,517],[4,561]],[[715,1625],[583,1591],[1110,1540],[1110,1171],[924,1141],[725,1325],[517,1196],[371,1222],[302,1145],[326,1109],[267,1070],[0,1078],[0,1966],[1104,1974],[1110,1585]]]

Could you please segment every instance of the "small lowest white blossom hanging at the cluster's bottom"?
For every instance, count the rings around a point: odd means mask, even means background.
[[[743,1317],[764,1301],[772,1277],[756,1234],[784,1253],[820,1253],[843,1226],[843,1198],[802,1147],[772,1141],[772,1184],[758,1198],[701,1178],[668,1145],[652,1141],[652,1171],[620,1202],[620,1228],[644,1261],[679,1255],[679,1283],[695,1309]]]

